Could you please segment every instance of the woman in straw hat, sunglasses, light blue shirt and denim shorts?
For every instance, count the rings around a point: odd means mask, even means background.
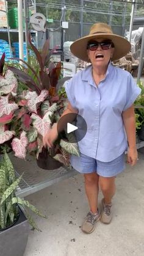
[[[131,44],[113,34],[104,23],[94,24],[89,35],[71,45],[75,56],[92,64],[74,75],[65,86],[69,103],[63,112],[63,115],[78,113],[87,122],[87,134],[78,142],[81,155],[71,157],[72,166],[84,174],[90,206],[82,224],[85,233],[93,232],[99,219],[105,224],[112,220],[115,177],[124,170],[127,148],[128,163],[131,166],[137,163],[133,103],[140,89],[130,73],[111,64],[111,60],[120,59],[130,49]],[[43,144],[52,147],[57,136],[56,125],[45,134]],[[99,187],[103,192],[101,213]]]

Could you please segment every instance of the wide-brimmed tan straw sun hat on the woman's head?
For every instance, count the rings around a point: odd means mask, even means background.
[[[71,53],[79,59],[89,62],[90,60],[87,55],[87,43],[90,40],[97,40],[98,38],[112,40],[115,47],[112,60],[120,59],[129,53],[131,49],[131,43],[120,35],[113,34],[110,26],[105,23],[96,23],[91,27],[89,35],[79,38],[71,44]]]

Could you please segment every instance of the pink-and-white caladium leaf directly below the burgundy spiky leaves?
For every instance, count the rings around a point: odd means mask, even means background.
[[[43,102],[48,97],[48,90],[41,90],[40,95],[37,92],[27,92],[25,98],[27,100],[27,107],[31,112],[37,113],[37,105]]]

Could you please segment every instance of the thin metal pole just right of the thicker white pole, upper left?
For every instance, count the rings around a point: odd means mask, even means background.
[[[24,21],[25,21],[25,38],[26,38],[26,59],[28,61],[28,56],[29,56],[29,52],[28,52],[28,33],[29,33],[29,17],[28,17],[28,3],[27,0],[24,0]]]

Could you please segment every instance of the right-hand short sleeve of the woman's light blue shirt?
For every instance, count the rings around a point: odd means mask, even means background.
[[[126,90],[126,103],[124,105],[123,111],[132,106],[136,98],[140,95],[140,92],[140,87],[137,86],[134,78],[132,78],[131,74],[129,74]]]

